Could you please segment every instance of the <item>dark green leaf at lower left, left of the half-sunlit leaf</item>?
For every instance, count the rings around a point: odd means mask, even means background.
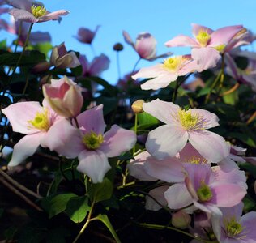
[[[53,197],[49,204],[49,219],[54,215],[58,215],[62,211],[66,210],[66,204],[70,201],[70,198],[75,198],[76,194],[58,194]]]

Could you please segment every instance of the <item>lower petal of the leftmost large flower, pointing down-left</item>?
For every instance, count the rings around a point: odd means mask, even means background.
[[[44,133],[29,134],[20,139],[19,142],[15,144],[15,147],[13,147],[11,161],[8,166],[16,166],[26,160],[29,156],[32,156],[36,152],[43,136]]]

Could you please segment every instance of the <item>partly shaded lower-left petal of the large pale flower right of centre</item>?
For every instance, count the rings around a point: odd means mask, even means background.
[[[175,156],[186,145],[189,134],[179,126],[164,125],[149,132],[147,151],[159,160]]]

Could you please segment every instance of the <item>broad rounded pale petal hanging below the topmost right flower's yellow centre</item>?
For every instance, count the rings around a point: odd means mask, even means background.
[[[220,53],[210,47],[194,48],[191,56],[197,62],[199,72],[215,67],[221,58]]]

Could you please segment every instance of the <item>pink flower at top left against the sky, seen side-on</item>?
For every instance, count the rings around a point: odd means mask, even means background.
[[[15,20],[20,20],[28,23],[40,23],[49,20],[58,20],[62,15],[68,15],[69,11],[59,10],[49,12],[41,4],[41,2],[32,2],[28,0],[8,0],[14,8],[9,11]],[[33,4],[34,3],[34,4]]]

